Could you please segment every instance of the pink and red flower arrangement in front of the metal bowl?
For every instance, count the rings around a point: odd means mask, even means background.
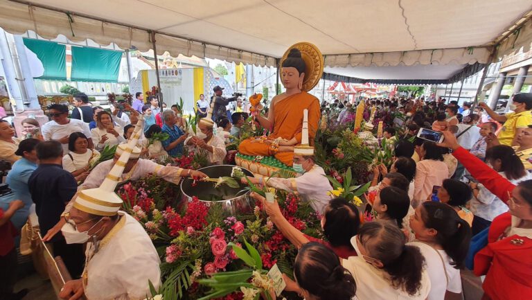
[[[235,168],[233,177],[238,178],[241,171]],[[124,209],[139,220],[161,255],[163,285],[152,292],[152,297],[157,294],[161,294],[163,299],[206,297],[211,288],[200,285],[200,282],[206,283],[217,274],[215,279],[245,270],[249,260],[244,258],[242,261],[242,252],[246,252],[243,247],[247,249],[247,255],[254,258],[256,266],[260,259],[261,267],[249,271],[250,285],[233,287],[231,292],[226,290],[228,294],[218,294],[216,299],[244,299],[260,293],[261,286],[265,290],[265,286],[260,284],[261,280],[265,280],[260,270],[268,270],[274,264],[281,272],[292,276],[297,249],[276,230],[260,203],[252,213],[227,215],[221,204],[197,198],[187,204],[172,203],[173,199],[179,198],[172,195],[174,188],[177,189],[177,186],[165,186],[155,181],[153,176],[118,188],[118,195],[125,203]],[[308,202],[302,202],[293,193],[279,191],[277,199],[288,222],[309,236],[322,238],[321,216]],[[256,254],[251,255],[252,250],[250,252],[246,242],[254,245]],[[253,272],[260,272],[260,276]]]

